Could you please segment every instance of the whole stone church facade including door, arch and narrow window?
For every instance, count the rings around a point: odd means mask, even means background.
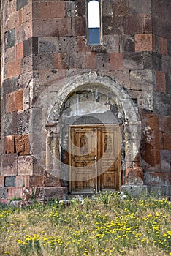
[[[1,1],[0,198],[171,195],[170,0],[91,2]]]

